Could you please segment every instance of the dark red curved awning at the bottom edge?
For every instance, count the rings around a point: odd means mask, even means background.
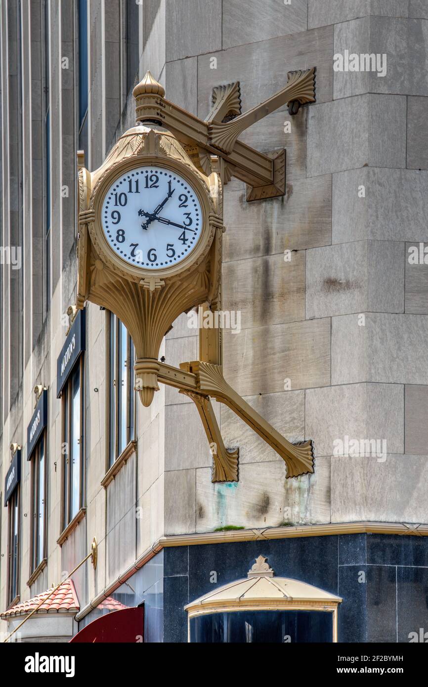
[[[106,613],[80,630],[71,642],[144,642],[144,605]]]

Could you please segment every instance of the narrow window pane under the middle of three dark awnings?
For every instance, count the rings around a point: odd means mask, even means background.
[[[32,462],[32,572],[46,557],[46,460],[45,434],[38,441]]]

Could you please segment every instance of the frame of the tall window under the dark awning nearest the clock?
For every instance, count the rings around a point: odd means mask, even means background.
[[[69,460],[71,447],[71,390],[72,383],[76,371],[79,370],[79,384],[80,384],[80,436],[78,445],[80,447],[80,480],[79,480],[79,501],[76,513],[71,517],[71,460]],[[66,407],[67,406],[67,407]],[[67,414],[67,417],[66,417]],[[67,426],[67,435],[65,428]],[[67,539],[69,533],[76,527],[76,525],[85,516],[85,480],[86,480],[86,453],[85,453],[85,354],[81,354],[70,370],[67,381],[61,391],[61,498],[60,498],[60,537],[57,543],[62,545]],[[67,452],[64,451],[65,444],[67,445]],[[65,487],[65,476],[67,475],[67,487]],[[67,493],[66,493],[67,491]],[[67,499],[67,504],[65,502]],[[67,512],[65,508],[67,507]]]

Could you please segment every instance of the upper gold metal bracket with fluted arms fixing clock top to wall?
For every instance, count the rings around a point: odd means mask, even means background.
[[[133,91],[137,122],[161,122],[188,149],[196,166],[206,174],[210,171],[206,169],[207,155],[220,155],[225,170],[223,183],[231,177],[245,181],[249,186],[247,201],[281,196],[285,193],[284,150],[276,150],[275,156],[260,153],[240,142],[238,136],[284,104],[295,115],[301,104],[315,102],[315,67],[289,71],[287,78],[286,86],[271,98],[229,122],[222,122],[228,115],[234,117],[240,111],[238,82],[214,89],[214,103],[204,121],[166,100],[165,89],[148,72],[144,83]]]

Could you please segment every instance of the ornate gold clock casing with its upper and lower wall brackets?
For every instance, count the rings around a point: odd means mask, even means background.
[[[159,349],[181,313],[200,306],[211,313],[221,311],[223,185],[232,177],[243,179],[247,183],[247,200],[282,195],[285,190],[284,150],[259,153],[240,143],[238,135],[285,103],[291,103],[293,111],[297,111],[300,104],[314,102],[315,68],[290,72],[282,91],[244,114],[240,113],[238,82],[216,87],[206,120],[166,100],[164,87],[150,72],[135,87],[133,95],[137,124],[117,140],[102,165],[90,172],[85,168],[84,153],[78,151],[78,293],[76,307],[67,311],[70,322],[87,300],[108,308],[122,320],[135,346],[135,389],[142,403],[145,406],[152,403],[159,381],[177,387],[194,401],[210,443],[213,482],[238,480],[239,451],[236,447],[225,448],[210,398],[232,408],[283,458],[287,477],[312,473],[312,442],[291,444],[225,381],[220,328],[200,330],[199,360],[181,363],[180,368],[159,361]],[[160,264],[156,262],[156,251],[155,258],[150,258],[154,249],[148,251],[146,262],[142,258],[131,260],[115,243],[120,243],[122,229],[114,230],[112,226],[115,239],[106,230],[106,199],[115,197],[117,210],[111,209],[112,201],[109,212],[112,225],[117,225],[122,202],[126,205],[128,196],[120,190],[113,191],[126,181],[127,193],[131,194],[135,183],[138,198],[146,199],[147,193],[142,193],[133,177],[141,172],[142,185],[146,173],[145,188],[152,188],[148,185],[147,171],[151,168],[160,170],[155,174],[157,181],[153,181],[155,188],[159,188],[159,174],[165,175],[164,183],[168,174],[171,179],[181,179],[181,187],[189,188],[194,194],[194,207],[200,208],[194,225],[199,232],[197,240],[193,239],[191,247],[183,249],[179,260],[174,258]],[[155,210],[149,212],[143,207],[138,211],[145,218],[142,229],[138,229],[143,236],[149,236],[142,230],[150,223],[154,223],[150,231],[153,227],[174,225],[172,219],[159,215],[159,208],[164,207],[174,192],[171,183],[168,182],[167,199]],[[122,202],[121,196],[126,196]],[[135,197],[132,196],[131,202]],[[174,197],[177,199],[177,194]],[[135,220],[131,225],[137,225],[137,212],[133,212]],[[183,225],[176,220],[174,226],[183,229],[182,236],[188,235],[185,232],[195,232],[188,229],[187,221]],[[185,240],[181,240],[184,244]]]

